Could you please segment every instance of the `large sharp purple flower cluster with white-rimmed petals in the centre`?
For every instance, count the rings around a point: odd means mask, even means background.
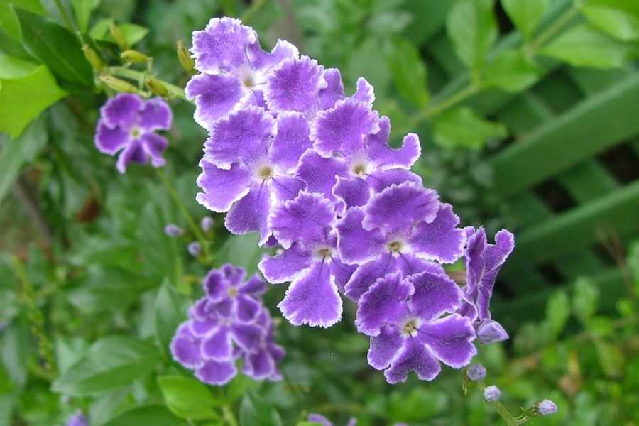
[[[369,363],[391,383],[410,371],[432,380],[440,362],[469,364],[480,327],[482,342],[508,337],[488,304],[513,235],[500,231],[492,245],[484,229],[459,227],[410,171],[417,135],[389,145],[371,84],[360,78],[347,97],[339,70],[281,40],[265,52],[231,18],[195,31],[191,51],[200,74],[187,97],[209,131],[197,200],[227,212],[231,233],[258,231],[260,245],[279,247],[259,268],[271,283],[290,282],[278,306],[292,324],[335,324],[344,294],[371,337]],[[463,290],[442,267],[462,256]]]

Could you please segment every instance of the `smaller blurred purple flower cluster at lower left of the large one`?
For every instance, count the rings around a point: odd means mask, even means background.
[[[204,278],[204,297],[190,307],[178,327],[171,353],[204,383],[223,385],[242,373],[256,380],[279,380],[284,350],[273,342],[273,321],[261,295],[266,283],[243,268],[226,264]]]

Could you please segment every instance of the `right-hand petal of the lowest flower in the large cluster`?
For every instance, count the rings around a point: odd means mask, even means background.
[[[468,365],[477,354],[472,344],[475,330],[468,318],[458,314],[421,324],[417,336],[439,361],[452,368]]]

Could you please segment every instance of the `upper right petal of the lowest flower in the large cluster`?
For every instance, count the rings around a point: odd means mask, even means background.
[[[410,297],[411,312],[422,320],[430,321],[459,307],[461,290],[448,275],[422,272],[410,275],[408,280],[415,288]]]

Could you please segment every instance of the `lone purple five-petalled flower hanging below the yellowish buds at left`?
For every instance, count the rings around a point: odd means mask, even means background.
[[[171,127],[173,114],[163,99],[144,101],[137,94],[117,94],[100,109],[95,134],[95,146],[102,153],[115,155],[120,151],[117,168],[120,173],[132,161],[154,167],[164,165],[163,152],[168,141],[155,133]]]

